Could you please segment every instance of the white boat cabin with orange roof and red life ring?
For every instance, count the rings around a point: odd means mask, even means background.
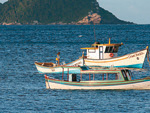
[[[81,49],[87,50],[86,57],[88,59],[108,59],[117,57],[117,52],[119,46],[123,45],[121,44],[111,44],[110,39],[108,44],[100,44],[98,42],[95,42],[92,44],[92,47],[86,47]]]

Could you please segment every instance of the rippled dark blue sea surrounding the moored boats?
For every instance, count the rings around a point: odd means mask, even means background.
[[[150,46],[150,25],[96,25],[96,41],[121,43],[118,55]],[[82,35],[82,36],[80,36]],[[95,42],[92,25],[0,26],[0,112],[149,113],[150,90],[47,90],[35,61],[66,63]],[[134,72],[135,78],[150,76]]]

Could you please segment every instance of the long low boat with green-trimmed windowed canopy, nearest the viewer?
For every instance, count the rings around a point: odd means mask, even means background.
[[[66,79],[64,77],[63,73],[61,79],[45,75],[46,88],[64,90],[150,89],[150,77],[132,80],[132,73],[129,69],[82,70],[79,76],[67,74]]]

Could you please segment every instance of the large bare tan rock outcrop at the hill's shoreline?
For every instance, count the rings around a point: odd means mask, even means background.
[[[77,22],[77,24],[83,24],[83,25],[88,25],[88,24],[100,24],[101,21],[101,16],[98,15],[97,13],[89,14],[88,16],[84,17],[82,20]]]

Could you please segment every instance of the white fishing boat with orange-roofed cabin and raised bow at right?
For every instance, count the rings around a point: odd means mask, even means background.
[[[81,48],[86,50],[86,55],[83,62],[80,59],[76,62],[66,64],[66,66],[84,65],[89,67],[126,67],[126,68],[142,68],[147,54],[147,60],[149,62],[149,47],[145,49],[118,56],[119,47],[121,44],[111,44],[110,39],[108,44],[100,44],[98,42],[92,44],[91,47]],[[80,61],[80,62],[79,62]]]

